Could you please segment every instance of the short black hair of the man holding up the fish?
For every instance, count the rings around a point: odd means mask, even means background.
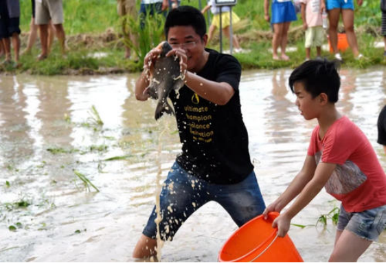
[[[200,10],[192,6],[179,6],[169,12],[164,26],[166,39],[168,39],[169,29],[176,25],[191,25],[201,39],[207,32],[205,17]]]

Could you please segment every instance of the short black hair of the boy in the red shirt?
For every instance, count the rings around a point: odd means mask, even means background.
[[[337,72],[338,64],[334,61],[315,60],[306,61],[299,65],[289,77],[288,83],[293,93],[295,82],[302,82],[304,89],[311,94],[313,98],[321,93],[326,93],[330,103],[338,101],[339,87],[341,79]]]

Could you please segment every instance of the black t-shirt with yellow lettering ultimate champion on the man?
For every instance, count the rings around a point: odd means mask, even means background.
[[[177,162],[194,176],[216,184],[244,180],[253,165],[248,150],[248,133],[242,120],[240,93],[241,66],[227,54],[209,50],[209,58],[198,76],[226,82],[235,94],[226,105],[216,105],[183,86],[172,92],[182,153]]]

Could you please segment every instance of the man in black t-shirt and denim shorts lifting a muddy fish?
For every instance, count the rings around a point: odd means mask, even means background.
[[[230,55],[205,49],[203,14],[180,6],[168,14],[165,34],[172,46],[167,56],[178,56],[185,85],[170,94],[182,143],[182,152],[168,173],[160,195],[162,240],[172,240],[181,224],[203,204],[214,200],[240,227],[265,209],[248,150],[242,120],[240,63]],[[160,50],[144,59],[145,70],[135,85],[135,96],[146,101],[152,70]],[[155,255],[157,215],[153,209],[133,257]]]

